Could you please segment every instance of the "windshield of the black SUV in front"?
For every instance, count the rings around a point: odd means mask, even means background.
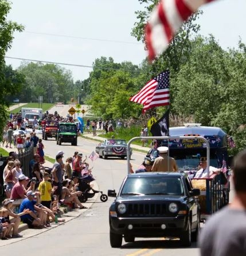
[[[129,177],[121,196],[127,194],[170,194],[183,195],[183,184],[179,177]]]

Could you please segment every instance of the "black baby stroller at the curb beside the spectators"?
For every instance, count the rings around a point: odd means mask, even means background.
[[[101,193],[100,200],[102,202],[106,202],[108,200],[107,194],[103,194],[102,191],[91,188],[89,182],[91,182],[91,179],[87,179],[87,177],[79,178],[79,186],[77,187],[77,190],[83,192],[80,196],[78,196],[80,202],[86,202],[88,198],[92,198],[96,193]]]

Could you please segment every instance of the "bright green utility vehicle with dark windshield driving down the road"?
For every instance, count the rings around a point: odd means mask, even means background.
[[[77,146],[77,131],[75,123],[59,123],[56,144],[69,142],[72,146]]]

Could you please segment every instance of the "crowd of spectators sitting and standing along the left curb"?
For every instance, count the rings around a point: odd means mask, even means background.
[[[40,163],[40,155],[34,154],[29,162],[28,176],[22,173],[21,162],[17,155],[7,158],[3,171],[6,199],[0,208],[0,235],[2,239],[21,237],[18,232],[20,222],[30,228],[46,228],[56,218],[60,205],[85,209],[79,200],[83,193],[79,190],[78,178],[88,164],[83,155],[75,152],[73,157],[63,162],[63,151],[56,154],[52,169],[46,170]],[[83,175],[91,175],[91,171]],[[75,180],[75,182],[73,181]]]

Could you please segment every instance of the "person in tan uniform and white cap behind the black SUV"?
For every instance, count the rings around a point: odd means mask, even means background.
[[[158,158],[155,158],[151,171],[178,171],[178,166],[174,158],[167,155],[168,147],[158,147]]]

